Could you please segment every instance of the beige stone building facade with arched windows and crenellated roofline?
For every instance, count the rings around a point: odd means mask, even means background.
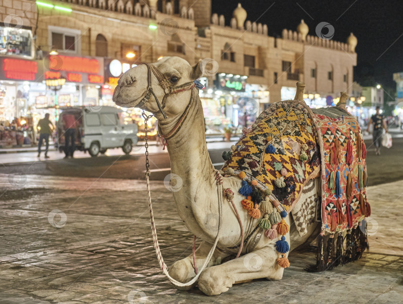
[[[4,27],[31,30],[33,48],[45,56],[54,50],[104,58],[105,71],[114,59],[130,67],[161,56],[180,56],[192,65],[209,58],[217,73],[207,75],[201,96],[221,107],[230,97],[250,97],[261,111],[270,102],[293,98],[296,81],[306,83],[312,106],[325,105],[340,91],[351,93],[357,62],[353,35],[348,43],[310,36],[302,20],[297,31],[285,29],[275,38],[268,35],[270,24],[247,20],[240,4],[234,8],[233,18],[225,20],[211,12],[211,0],[0,0]],[[105,74],[106,84],[108,79]],[[80,92],[77,98],[85,96]]]

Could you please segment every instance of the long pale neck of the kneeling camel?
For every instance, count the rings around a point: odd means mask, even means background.
[[[187,96],[190,99],[190,94]],[[202,219],[198,219],[198,213],[200,208],[204,208],[205,195],[216,193],[217,186],[215,169],[205,142],[203,109],[197,89],[194,89],[193,97],[186,120],[177,134],[167,141],[167,148],[171,174],[175,174],[171,175],[171,180],[181,183],[180,189],[173,191],[179,216],[189,230],[198,234],[203,233]],[[163,134],[169,134],[180,119],[181,117],[176,117],[169,123],[164,121],[161,125]],[[179,181],[176,175],[179,176]]]

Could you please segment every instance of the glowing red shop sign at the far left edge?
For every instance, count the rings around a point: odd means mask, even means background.
[[[21,59],[3,59],[3,71],[6,78],[18,80],[35,80],[38,67],[35,61]]]

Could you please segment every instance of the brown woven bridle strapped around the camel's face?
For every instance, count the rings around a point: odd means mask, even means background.
[[[163,109],[165,108],[165,103],[166,103],[167,97],[170,94],[175,94],[175,93],[179,93],[179,92],[183,92],[183,91],[186,91],[186,90],[193,89],[196,86],[196,83],[194,81],[189,81],[189,82],[185,82],[185,83],[180,84],[180,85],[173,85],[155,67],[150,66],[149,64],[146,64],[146,63],[143,63],[142,65],[145,65],[147,67],[147,90],[145,92],[144,97],[141,99],[141,101],[139,102],[139,104],[137,106],[139,108],[141,108],[150,99],[151,94],[152,94],[154,96],[155,101],[157,102],[159,112],[161,112],[161,114],[162,114],[162,116],[164,118],[167,118],[167,115],[163,111]],[[158,100],[158,98],[155,95],[154,90],[152,88],[151,72],[153,72],[153,74],[157,78],[159,84],[164,89],[165,95],[162,98],[162,104]]]

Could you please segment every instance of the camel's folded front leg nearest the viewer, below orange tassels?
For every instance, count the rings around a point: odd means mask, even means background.
[[[199,277],[199,289],[208,296],[228,291],[235,283],[267,278],[281,280],[284,268],[276,260],[274,243],[224,264],[205,269]]]

